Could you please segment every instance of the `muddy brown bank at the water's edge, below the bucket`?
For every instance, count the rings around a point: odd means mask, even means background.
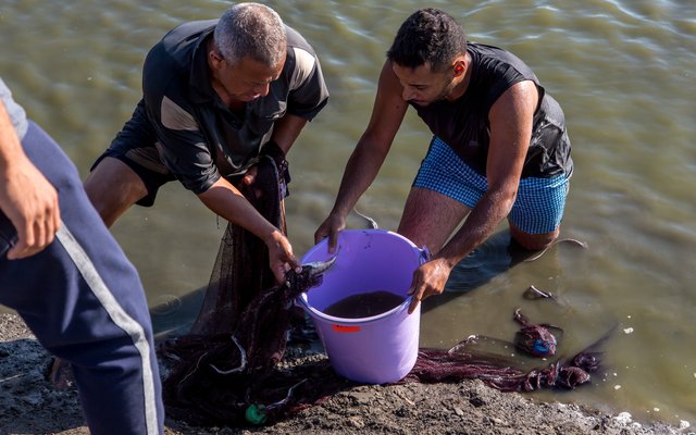
[[[308,358],[308,357],[301,357]],[[316,358],[314,356],[314,358]],[[45,380],[49,355],[15,315],[0,314],[0,435],[88,434],[76,391]],[[301,359],[295,361],[301,363]],[[356,386],[266,427],[188,427],[166,434],[694,434],[693,427],[634,422],[563,403],[536,403],[481,382]]]

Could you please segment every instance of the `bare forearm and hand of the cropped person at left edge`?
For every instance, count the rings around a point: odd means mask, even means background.
[[[8,259],[34,256],[53,241],[61,225],[55,188],[34,166],[0,100],[0,210],[17,232]]]

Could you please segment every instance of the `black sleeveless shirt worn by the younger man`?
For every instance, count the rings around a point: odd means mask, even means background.
[[[570,175],[573,161],[563,111],[545,91],[532,70],[514,54],[497,47],[469,42],[467,51],[472,59],[472,71],[463,96],[452,102],[442,100],[426,107],[411,103],[431,132],[485,176],[490,142],[490,107],[515,83],[532,80],[538,89],[540,104],[534,114],[532,140],[522,177]]]

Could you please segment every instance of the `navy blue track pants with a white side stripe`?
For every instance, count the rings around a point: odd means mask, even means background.
[[[160,377],[140,278],[60,147],[34,123],[22,145],[58,189],[62,227],[33,257],[0,258],[0,303],[72,364],[92,434],[161,434]]]

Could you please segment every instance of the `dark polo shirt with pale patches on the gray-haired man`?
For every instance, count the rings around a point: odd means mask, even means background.
[[[286,26],[281,76],[265,97],[247,102],[244,113],[231,111],[213,90],[208,70],[206,46],[216,23],[185,23],[150,50],[144,100],[111,147],[149,171],[170,172],[195,194],[208,190],[220,176],[244,173],[286,113],[311,121],[328,99],[312,47]],[[144,149],[152,146],[159,159]]]

